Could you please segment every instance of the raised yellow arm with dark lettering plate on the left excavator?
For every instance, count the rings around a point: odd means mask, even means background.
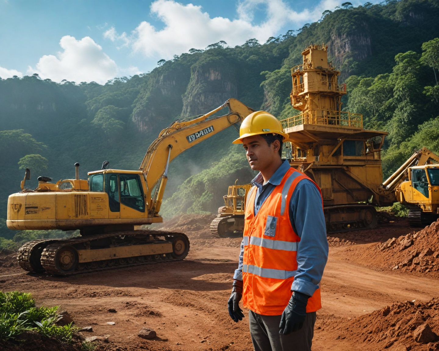
[[[216,112],[228,107],[229,113],[220,117],[212,117]],[[236,99],[229,99],[215,110],[194,118],[191,121],[175,121],[160,132],[158,138],[151,143],[140,164],[147,184],[148,212],[158,214],[167,182],[169,162],[183,151],[201,143],[207,138],[226,129],[230,125],[242,122],[254,112],[252,108]],[[160,181],[160,184],[158,182]],[[155,186],[154,194],[151,193]]]

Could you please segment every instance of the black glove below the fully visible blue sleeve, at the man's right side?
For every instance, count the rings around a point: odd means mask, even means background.
[[[290,301],[282,313],[279,333],[287,335],[302,328],[303,322],[305,322],[308,299],[308,295],[293,291]]]

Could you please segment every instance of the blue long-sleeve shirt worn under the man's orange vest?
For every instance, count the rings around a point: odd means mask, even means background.
[[[252,180],[252,185],[256,186],[255,215],[273,189],[281,184],[289,168],[288,161],[284,161],[267,183],[263,184],[261,173]],[[291,226],[300,237],[297,270],[291,290],[312,296],[320,286],[328,255],[326,224],[319,190],[309,179],[300,180],[292,193],[289,206]],[[243,258],[244,240],[241,242],[239,264],[234,279],[242,280]]]

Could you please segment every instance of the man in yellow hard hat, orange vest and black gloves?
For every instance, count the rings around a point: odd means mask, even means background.
[[[308,351],[328,254],[320,189],[282,160],[288,134],[273,115],[253,112],[239,135],[233,143],[242,143],[259,174],[247,197],[229,314],[242,320],[242,297],[255,351]]]

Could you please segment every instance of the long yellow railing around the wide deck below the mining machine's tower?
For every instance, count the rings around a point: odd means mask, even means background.
[[[284,128],[302,124],[340,125],[363,129],[363,115],[346,111],[313,110],[281,120]]]

